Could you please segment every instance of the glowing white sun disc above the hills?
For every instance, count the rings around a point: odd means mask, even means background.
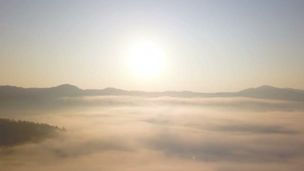
[[[140,42],[129,49],[129,67],[133,73],[143,77],[158,75],[164,64],[164,52],[155,43]]]

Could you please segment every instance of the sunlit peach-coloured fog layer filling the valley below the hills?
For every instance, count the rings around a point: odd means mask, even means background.
[[[302,170],[298,102],[250,98],[84,97],[86,105],[6,110],[66,127],[0,148],[3,170]],[[14,114],[9,115],[9,112]]]

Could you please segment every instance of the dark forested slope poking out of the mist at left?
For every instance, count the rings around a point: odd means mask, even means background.
[[[0,146],[39,142],[65,128],[33,121],[0,118]]]

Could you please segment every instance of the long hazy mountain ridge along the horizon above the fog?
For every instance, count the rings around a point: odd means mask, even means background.
[[[16,86],[0,86],[0,100],[41,100],[65,96],[97,96],[97,95],[130,95],[130,96],[171,96],[171,97],[252,97],[292,101],[304,101],[304,90],[293,88],[277,88],[262,85],[256,88],[247,88],[237,92],[192,92],[192,91],[128,91],[108,87],[104,89],[80,89],[70,84],[62,84],[49,88],[22,88]]]

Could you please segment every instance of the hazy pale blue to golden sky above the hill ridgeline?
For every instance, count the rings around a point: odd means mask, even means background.
[[[303,8],[303,0],[0,0],[0,85],[304,89]]]

